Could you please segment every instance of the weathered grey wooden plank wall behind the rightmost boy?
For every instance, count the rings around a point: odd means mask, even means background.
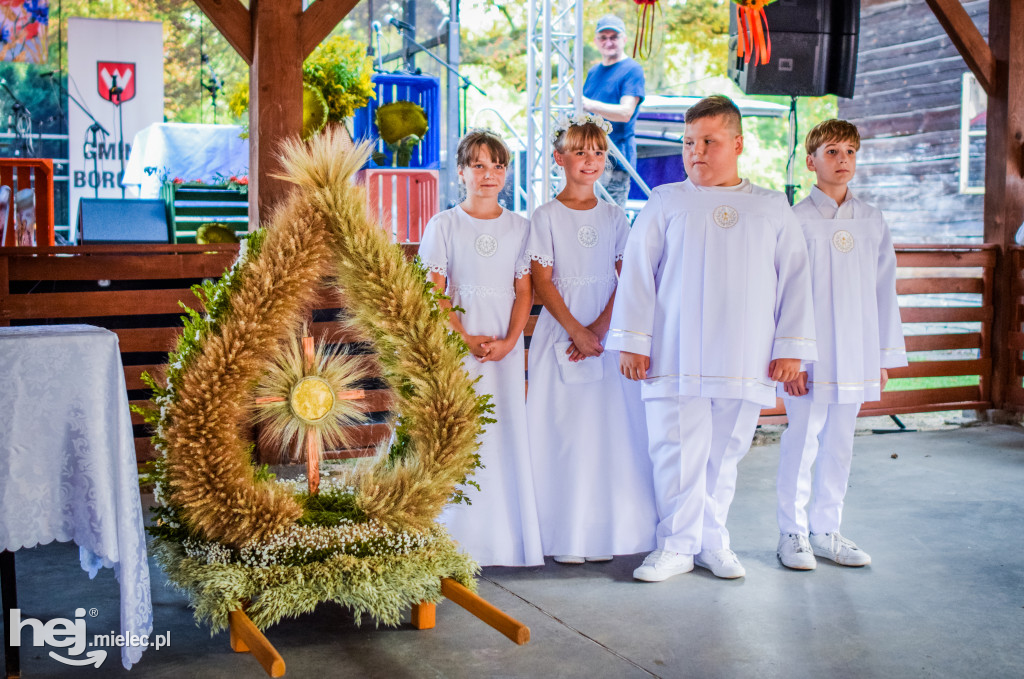
[[[987,36],[988,2],[964,8]],[[925,2],[861,2],[855,94],[840,99],[839,116],[861,134],[853,188],[883,210],[900,243],[982,240],[983,197],[959,193],[967,71]]]

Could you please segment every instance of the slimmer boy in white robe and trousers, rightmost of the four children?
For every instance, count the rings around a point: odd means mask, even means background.
[[[846,121],[826,120],[805,146],[817,184],[794,212],[811,262],[818,359],[784,385],[790,426],[777,478],[777,555],[797,570],[813,569],[815,555],[847,566],[871,562],[839,532],[853,434],[860,405],[881,397],[886,369],[906,365],[889,227],[847,188],[860,134]]]

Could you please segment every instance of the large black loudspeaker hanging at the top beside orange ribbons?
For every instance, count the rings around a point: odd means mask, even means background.
[[[776,0],[765,7],[771,60],[736,57],[735,10],[729,22],[729,77],[746,94],[853,96],[860,0]]]

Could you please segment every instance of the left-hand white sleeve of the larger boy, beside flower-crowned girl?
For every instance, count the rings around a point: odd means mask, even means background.
[[[650,355],[657,303],[655,275],[668,226],[659,192],[651,194],[626,243],[605,348]]]

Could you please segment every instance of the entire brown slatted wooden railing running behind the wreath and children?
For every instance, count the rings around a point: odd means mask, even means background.
[[[408,246],[407,254],[415,249]],[[110,328],[120,340],[129,399],[144,402],[150,393],[141,374],[159,373],[166,364],[181,326],[178,302],[197,307],[190,286],[220,275],[237,253],[236,245],[0,248],[0,326],[88,323]],[[897,292],[911,363],[890,371],[892,386],[881,401],[865,404],[862,416],[992,408],[990,334],[997,254],[994,246],[897,248]],[[1024,249],[1012,249],[1009,256],[1018,271],[1015,294],[1020,297]],[[335,293],[321,294],[311,316],[313,335],[366,350],[335,323],[342,305]],[[1009,405],[1024,409],[1024,305],[1018,303],[1016,309],[1015,332],[1007,340],[1017,357]],[[527,336],[536,322],[530,319]],[[927,378],[962,383],[922,384]],[[907,385],[913,388],[900,388]],[[367,388],[366,410],[374,419],[353,428],[352,448],[334,457],[370,455],[389,435],[383,419],[389,395],[379,381],[371,380]],[[762,415],[762,422],[785,417],[780,407]],[[138,416],[132,422],[138,457],[148,459],[148,433]]]

